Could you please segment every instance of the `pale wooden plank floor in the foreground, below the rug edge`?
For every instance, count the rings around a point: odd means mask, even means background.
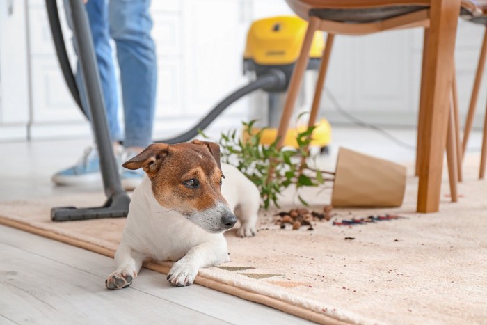
[[[106,290],[111,258],[0,225],[0,324],[305,324],[200,285],[172,287],[143,269]]]

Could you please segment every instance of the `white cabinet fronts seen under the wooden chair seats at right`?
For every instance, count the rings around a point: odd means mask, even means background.
[[[465,120],[484,27],[460,20],[455,50],[461,120]],[[420,95],[423,30],[335,37],[326,87],[343,109],[376,125],[414,126]],[[484,115],[487,79],[481,86],[477,117]],[[350,123],[324,93],[321,114]],[[475,119],[481,127],[483,118]]]

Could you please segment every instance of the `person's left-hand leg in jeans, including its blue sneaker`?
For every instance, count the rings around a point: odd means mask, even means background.
[[[65,10],[67,23],[70,28],[72,28],[68,1],[65,1]],[[88,1],[88,3],[86,3],[86,13],[88,14],[95,54],[97,57],[109,132],[112,141],[120,141],[122,140],[122,132],[118,122],[117,81],[115,78],[115,68],[110,46],[108,6],[106,0]],[[77,51],[76,46],[74,46],[74,50]],[[86,99],[86,91],[83,86],[79,62],[77,63],[77,74],[75,78],[79,88],[83,110],[86,111],[89,116],[88,101]],[[52,180],[56,184],[82,184],[99,181],[99,156],[97,150],[93,150],[92,148],[86,150],[83,157],[75,166],[56,173],[56,175],[52,177]]]

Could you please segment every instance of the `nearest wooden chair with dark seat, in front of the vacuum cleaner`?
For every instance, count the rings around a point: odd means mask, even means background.
[[[278,129],[282,145],[283,135],[289,127],[303,73],[308,64],[314,31],[328,33],[321,61],[317,88],[310,113],[309,125],[317,118],[321,90],[335,35],[367,35],[380,31],[423,27],[425,41],[420,100],[420,125],[418,125],[419,188],[418,212],[436,212],[440,203],[442,161],[445,148],[449,161],[455,161],[454,119],[449,106],[452,102],[453,51],[456,25],[460,8],[464,14],[479,13],[470,0],[286,0],[294,12],[308,20],[308,30],[303,40],[301,54],[289,83],[287,98]],[[431,3],[430,3],[431,2]],[[448,146],[447,146],[448,142]],[[452,168],[452,173],[456,173]],[[450,177],[456,182],[456,176]],[[453,193],[452,193],[453,195]]]

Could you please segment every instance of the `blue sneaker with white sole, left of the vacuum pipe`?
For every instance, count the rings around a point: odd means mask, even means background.
[[[83,185],[102,182],[99,171],[98,150],[93,147],[85,149],[83,157],[76,165],[56,173],[52,181],[58,185]]]

